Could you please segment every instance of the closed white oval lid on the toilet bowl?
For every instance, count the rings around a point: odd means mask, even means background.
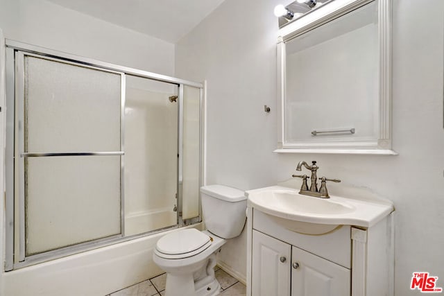
[[[156,250],[166,255],[176,255],[176,258],[193,256],[211,245],[211,238],[197,229],[182,229],[172,232],[157,241]]]

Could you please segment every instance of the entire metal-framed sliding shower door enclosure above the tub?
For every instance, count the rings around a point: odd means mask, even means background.
[[[6,46],[6,270],[200,221],[203,85]]]

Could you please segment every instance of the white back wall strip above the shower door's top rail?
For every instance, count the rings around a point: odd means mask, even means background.
[[[174,44],[49,1],[0,0],[0,28],[8,39],[167,76],[174,73]]]

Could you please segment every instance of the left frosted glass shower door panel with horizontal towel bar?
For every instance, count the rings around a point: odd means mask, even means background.
[[[120,235],[123,73],[16,59],[21,256]]]

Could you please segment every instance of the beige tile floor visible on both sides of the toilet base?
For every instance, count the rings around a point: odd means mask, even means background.
[[[241,296],[246,295],[246,287],[227,272],[216,266],[214,268],[216,279],[221,284],[221,296]],[[142,283],[124,288],[107,296],[159,296],[165,295],[165,280],[167,275],[159,275],[153,279],[147,279]]]

